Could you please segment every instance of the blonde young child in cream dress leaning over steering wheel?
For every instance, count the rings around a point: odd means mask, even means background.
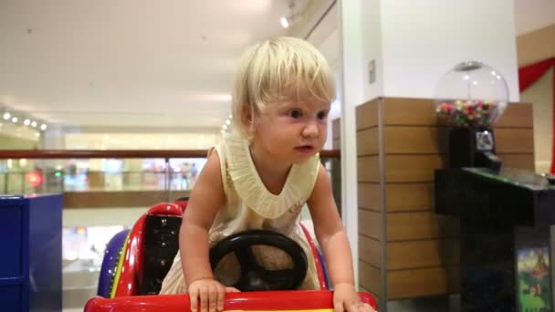
[[[237,264],[222,261],[226,264],[213,272],[209,249],[231,234],[253,229],[285,234],[301,245],[309,269],[300,288],[318,289],[313,255],[299,228],[299,213],[307,203],[335,289],[335,310],[372,311],[355,292],[351,248],[330,179],[319,163],[334,85],[324,57],[298,38],[273,38],[244,53],[234,80],[235,129],[209,153],[194,185],[183,214],[180,253],[161,294],[187,292],[193,312],[198,304],[203,312],[222,311],[225,292],[237,290],[215,276],[225,280],[219,271]],[[288,265],[288,258],[272,247],[256,246],[253,252],[264,267]]]

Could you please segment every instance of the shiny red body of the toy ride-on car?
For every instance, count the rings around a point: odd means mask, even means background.
[[[162,218],[162,224],[168,224],[168,220],[179,218],[179,224],[181,224],[181,217],[185,207],[186,201],[159,203],[154,205],[147,213],[139,218],[127,236],[125,243],[120,247],[120,259],[117,267],[108,270],[110,275],[113,276],[110,285],[110,298],[96,296],[89,299],[85,307],[85,312],[190,311],[189,296],[186,294],[143,296],[144,294],[141,293],[141,285],[145,283],[143,257],[145,255],[145,224],[147,218],[151,216]],[[332,310],[333,293],[328,290],[324,266],[319,261],[319,253],[310,237],[309,231],[304,227],[303,231],[307,235],[312,252],[314,253],[320,281],[320,290],[229,293],[225,295],[225,311],[284,312],[302,310],[305,312],[324,312],[326,310]],[[154,233],[157,232],[154,231]],[[174,233],[172,232],[172,234]],[[372,295],[360,293],[360,296],[362,302],[377,309],[376,301]]]

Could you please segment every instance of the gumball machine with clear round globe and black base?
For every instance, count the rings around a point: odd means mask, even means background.
[[[507,102],[507,82],[494,68],[467,61],[445,73],[435,88],[435,109],[449,128],[449,167],[500,168],[492,124]]]

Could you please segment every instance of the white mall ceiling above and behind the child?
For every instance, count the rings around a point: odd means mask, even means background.
[[[288,2],[1,0],[0,106],[89,129],[220,127],[237,57],[285,34]],[[527,33],[555,23],[555,0],[515,13]]]

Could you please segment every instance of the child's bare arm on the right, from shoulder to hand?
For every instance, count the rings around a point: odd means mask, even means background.
[[[360,298],[356,293],[351,247],[333,199],[330,177],[321,165],[307,203],[316,237],[328,265],[331,283],[335,287],[333,296],[335,311],[370,311],[370,307],[361,306]]]

